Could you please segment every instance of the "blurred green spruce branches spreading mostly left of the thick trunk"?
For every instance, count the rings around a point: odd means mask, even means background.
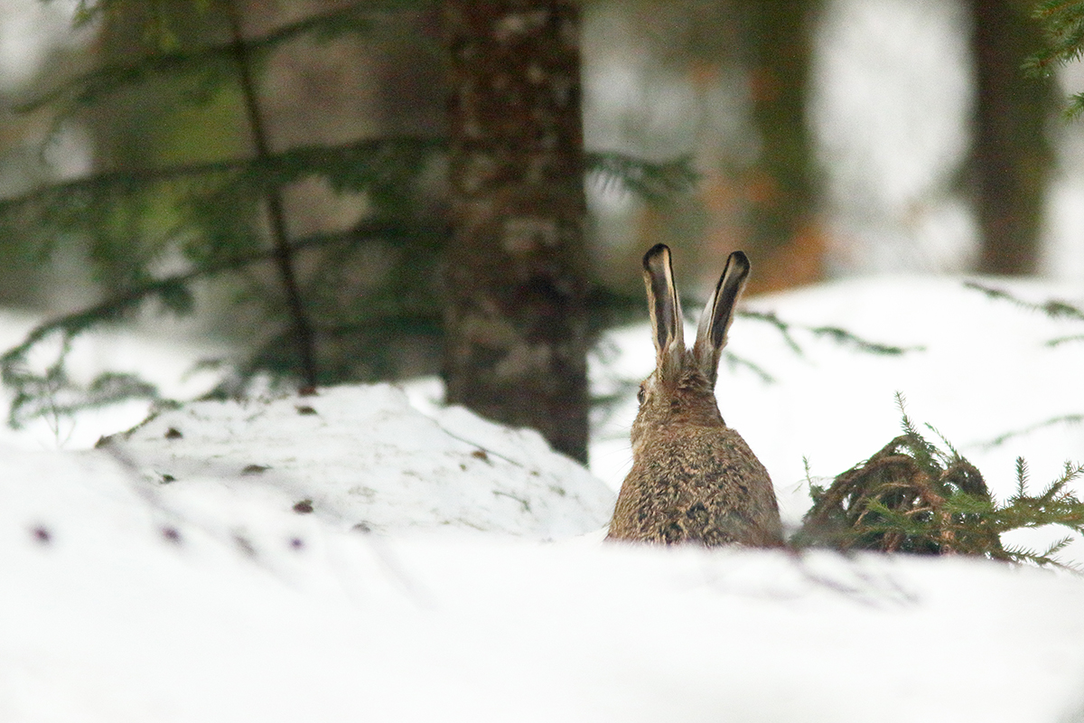
[[[75,13],[77,24],[138,18],[134,25],[144,30],[139,52],[62,82],[21,109],[49,108],[60,125],[118,98],[129,102],[151,88],[168,88],[153,95],[164,104],[147,108],[157,122],[168,126],[192,108],[214,107],[217,122],[240,126],[235,134],[242,143],[256,138],[257,146],[266,147],[261,129],[245,113],[245,103],[256,102],[244,88],[245,73],[258,78],[269,59],[295,41],[371,37],[387,13],[420,4],[353,3],[240,39],[228,1],[83,1]],[[149,138],[139,135],[141,142]],[[439,216],[424,210],[423,184],[443,163],[444,138],[385,135],[271,149],[249,157],[223,149],[209,156],[189,153],[199,160],[180,163],[176,154],[131,153],[127,138],[120,146],[127,160],[109,170],[0,199],[0,250],[47,261],[64,245],[78,247],[103,289],[95,304],[47,321],[0,356],[0,378],[14,390],[11,423],[74,410],[80,399],[96,405],[156,398],[153,386],[131,376],[75,384],[65,371],[67,351],[78,335],[147,308],[191,313],[201,298],[197,289],[211,283],[227,289],[237,315],[254,322],[246,356],[232,360],[234,373],[216,395],[243,390],[257,375],[280,383],[301,376],[305,354],[292,323],[298,313],[311,327],[319,384],[399,375],[402,360],[416,359],[418,347],[436,357],[431,350],[439,348],[442,330],[437,279],[448,231]],[[147,157],[157,162],[131,163]],[[686,158],[649,163],[596,152],[585,154],[584,162],[599,182],[656,203],[696,180]],[[291,186],[313,179],[335,193],[362,198],[367,216],[334,233],[283,238],[282,244],[269,240],[268,209],[281,207]],[[283,266],[297,276],[300,309],[275,274]],[[611,315],[614,299],[596,294],[594,301],[598,319]],[[57,345],[57,357],[46,366],[34,363],[51,344]]]

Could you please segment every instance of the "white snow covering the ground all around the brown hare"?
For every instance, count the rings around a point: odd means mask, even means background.
[[[790,524],[808,505],[802,457],[830,477],[877,451],[899,430],[896,390],[998,494],[1018,454],[1035,486],[1084,456],[1079,425],[984,444],[1084,412],[1084,344],[1046,345],[1080,322],[953,279],[840,281],[747,306],[921,347],[873,356],[796,330],[799,356],[767,324],[735,322],[730,350],[774,382],[724,366],[721,408]],[[649,371],[645,325],[608,344],[599,390]],[[421,382],[196,402],[101,429],[115,434],[94,449],[5,443],[0,720],[1084,716],[1077,576],[608,544],[634,400],[599,422],[596,477],[437,397]]]

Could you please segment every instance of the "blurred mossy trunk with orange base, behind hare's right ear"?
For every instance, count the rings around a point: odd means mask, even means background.
[[[801,279],[820,275],[823,240],[816,223],[813,141],[805,114],[810,29],[820,5],[820,0],[735,4],[753,124],[760,135],[759,158],[747,185],[748,244],[766,255],[758,266],[767,274],[778,270]],[[816,268],[808,268],[811,264]],[[786,285],[787,280],[778,282]]]

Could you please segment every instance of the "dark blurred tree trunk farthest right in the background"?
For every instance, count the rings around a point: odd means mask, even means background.
[[[1043,44],[1030,17],[1033,4],[971,0],[970,5],[978,85],[972,164],[984,273],[1033,273],[1038,260],[1054,90],[1050,80],[1025,77],[1020,69]]]

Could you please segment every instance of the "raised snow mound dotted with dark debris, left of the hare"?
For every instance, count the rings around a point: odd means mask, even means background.
[[[109,438],[106,448],[157,482],[165,499],[210,494],[237,514],[245,500],[274,499],[374,532],[461,529],[552,540],[602,528],[614,508],[609,488],[538,432],[462,408],[427,415],[389,385],[189,403]]]

